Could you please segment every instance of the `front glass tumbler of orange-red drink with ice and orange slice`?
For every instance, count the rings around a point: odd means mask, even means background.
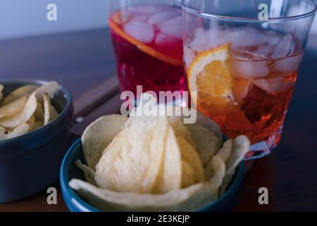
[[[310,0],[183,0],[184,61],[192,102],[247,159],[280,142],[316,5]]]

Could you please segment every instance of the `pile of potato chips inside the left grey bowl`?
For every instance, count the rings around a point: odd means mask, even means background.
[[[58,113],[51,105],[51,96],[58,89],[55,81],[24,85],[7,96],[0,84],[0,141],[22,136],[49,123]]]

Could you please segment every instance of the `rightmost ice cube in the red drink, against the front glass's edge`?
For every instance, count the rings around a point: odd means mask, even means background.
[[[159,30],[166,35],[182,39],[182,17],[178,16],[159,25]]]

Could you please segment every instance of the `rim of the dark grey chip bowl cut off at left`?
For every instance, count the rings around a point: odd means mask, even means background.
[[[30,79],[30,80],[16,79],[14,81],[4,79],[4,80],[0,81],[0,84],[17,83],[17,85],[22,84],[21,86],[23,86],[23,84],[24,85],[44,85],[44,84],[49,83],[49,82],[50,81],[38,80],[38,79]],[[65,97],[66,97],[67,103],[66,103],[66,106],[63,108],[62,112],[60,114],[58,114],[58,117],[56,119],[54,119],[53,121],[50,121],[48,124],[40,127],[39,129],[36,129],[35,131],[25,133],[22,136],[18,136],[15,138],[10,138],[10,139],[0,141],[0,145],[4,145],[4,144],[10,143],[10,142],[18,142],[20,139],[22,140],[23,138],[27,138],[30,136],[36,136],[39,133],[42,133],[43,131],[51,129],[54,124],[60,123],[61,120],[64,117],[66,117],[66,115],[68,114],[68,111],[71,109],[71,107],[73,105],[73,97],[70,94],[70,92],[65,87],[63,87],[63,85],[60,85],[59,83],[58,83],[58,90],[61,90],[63,92],[63,95],[66,95]]]

